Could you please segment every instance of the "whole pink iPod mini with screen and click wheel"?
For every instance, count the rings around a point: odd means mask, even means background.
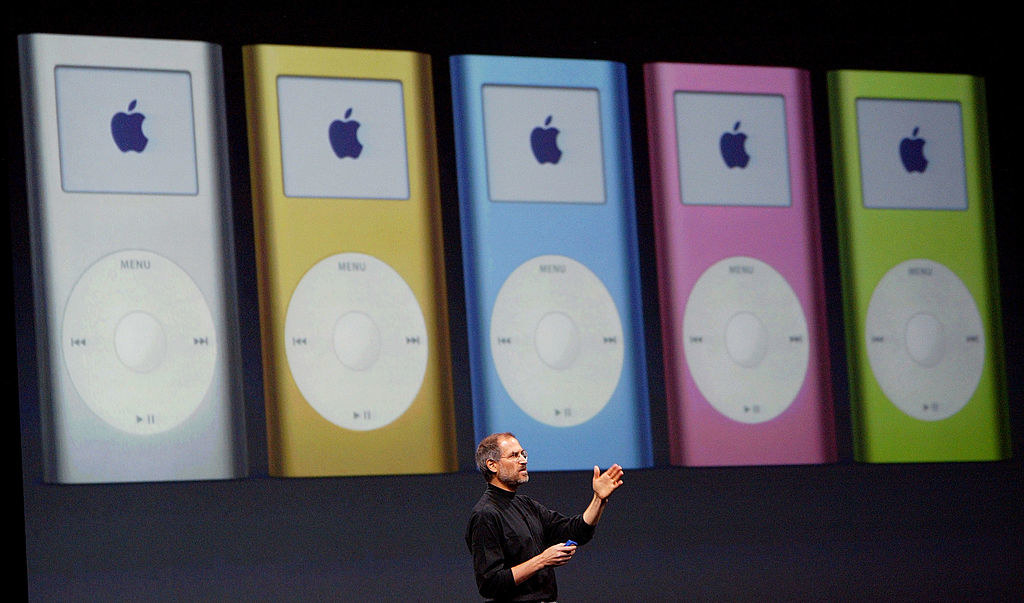
[[[672,463],[834,462],[810,77],[644,81]]]

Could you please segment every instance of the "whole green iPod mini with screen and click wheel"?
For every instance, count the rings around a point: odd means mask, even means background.
[[[854,457],[1010,456],[984,81],[828,74]]]

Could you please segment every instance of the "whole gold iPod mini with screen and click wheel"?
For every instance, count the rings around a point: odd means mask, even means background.
[[[243,53],[270,474],[456,470],[430,57]]]

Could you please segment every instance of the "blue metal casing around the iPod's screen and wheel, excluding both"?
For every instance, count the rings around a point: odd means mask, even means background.
[[[652,451],[626,68],[604,60],[484,55],[453,56],[450,62],[476,437],[514,432],[530,451],[530,468],[539,470],[589,469],[612,463],[649,467]],[[604,203],[490,200],[482,100],[487,85],[599,93]],[[528,135],[529,130],[524,130],[523,139]],[[622,373],[611,397],[596,416],[573,426],[546,424],[527,415],[504,387],[492,354],[496,336],[492,315],[503,284],[524,262],[545,255],[571,258],[600,279],[617,308],[625,339]],[[578,301],[584,306],[590,303]]]

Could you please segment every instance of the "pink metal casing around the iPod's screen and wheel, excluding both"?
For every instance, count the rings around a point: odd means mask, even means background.
[[[836,427],[810,75],[787,68],[655,62],[644,66],[644,77],[672,462],[691,466],[834,462]],[[781,97],[790,171],[787,206],[684,205],[674,104],[677,92]],[[723,127],[731,126],[730,121]],[[717,262],[741,257],[756,258],[778,271],[799,300],[807,322],[808,365],[803,384],[779,416],[764,422],[741,422],[719,413],[697,387],[684,349],[683,318],[695,283]],[[753,309],[759,310],[770,308]],[[790,345],[784,339],[773,343]],[[755,397],[749,404],[758,401]]]

